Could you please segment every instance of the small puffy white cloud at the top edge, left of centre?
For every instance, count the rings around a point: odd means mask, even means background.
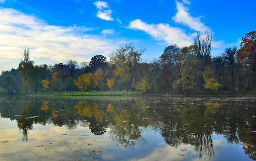
[[[103,9],[108,8],[108,3],[104,1],[97,1],[93,3],[96,8],[98,8],[98,12],[96,14],[96,17],[106,20],[106,21],[113,21],[114,19],[111,16],[112,10],[110,9]]]

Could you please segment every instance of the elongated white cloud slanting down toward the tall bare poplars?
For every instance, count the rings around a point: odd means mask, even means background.
[[[136,19],[131,21],[127,28],[144,31],[154,39],[165,41],[167,44],[176,43],[179,46],[189,46],[193,43],[193,37],[185,34],[182,29],[171,27],[169,24],[147,24],[140,19]]]

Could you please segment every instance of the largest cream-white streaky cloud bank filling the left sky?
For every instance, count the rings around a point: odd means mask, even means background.
[[[26,48],[30,50],[31,60],[39,60],[37,63],[41,64],[69,59],[83,62],[94,55],[107,56],[120,41],[87,33],[94,30],[92,27],[48,25],[11,8],[0,8],[0,15],[0,58],[18,61],[17,64]]]

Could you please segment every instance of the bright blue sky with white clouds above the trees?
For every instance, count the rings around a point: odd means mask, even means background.
[[[164,48],[193,44],[212,33],[211,56],[237,46],[256,30],[254,0],[0,0],[0,71],[18,68],[29,48],[35,65],[109,61],[112,51],[133,42],[143,61]]]

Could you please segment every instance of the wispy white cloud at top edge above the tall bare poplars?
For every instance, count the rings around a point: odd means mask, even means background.
[[[200,21],[200,17],[192,17],[188,12],[189,8],[185,7],[183,3],[175,1],[177,5],[177,13],[172,17],[173,21],[176,23],[181,23],[182,25],[188,26],[190,29],[199,31],[200,33],[205,33],[206,31],[211,31],[209,27],[204,25]],[[189,1],[183,0],[184,3],[189,4]]]

